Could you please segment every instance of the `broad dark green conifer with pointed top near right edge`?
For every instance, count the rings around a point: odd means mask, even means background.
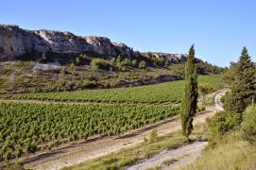
[[[255,67],[244,47],[239,61],[236,63],[234,81],[231,84],[230,112],[242,113],[246,104],[244,99],[255,93]]]

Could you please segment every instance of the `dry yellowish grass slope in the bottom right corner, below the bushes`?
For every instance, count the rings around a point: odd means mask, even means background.
[[[194,163],[182,169],[256,169],[256,146],[243,141],[234,132],[214,148],[206,149]]]

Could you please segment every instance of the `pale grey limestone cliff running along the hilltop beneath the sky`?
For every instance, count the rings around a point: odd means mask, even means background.
[[[104,37],[82,37],[71,32],[53,30],[25,30],[19,26],[0,25],[0,59],[13,60],[22,56],[42,57],[60,55],[68,58],[71,55],[89,53],[94,56],[124,58],[168,59],[172,62],[184,61],[185,55],[164,53],[139,53],[125,43],[111,42]],[[51,55],[49,55],[51,54]]]

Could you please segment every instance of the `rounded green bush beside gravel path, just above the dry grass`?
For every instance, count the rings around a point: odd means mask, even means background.
[[[223,139],[230,131],[235,130],[240,125],[240,114],[220,111],[207,120],[209,127],[209,141],[215,143]]]

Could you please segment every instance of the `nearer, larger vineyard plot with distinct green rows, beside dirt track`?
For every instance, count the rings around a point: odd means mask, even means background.
[[[4,160],[94,135],[118,135],[172,117],[179,106],[0,103]]]

